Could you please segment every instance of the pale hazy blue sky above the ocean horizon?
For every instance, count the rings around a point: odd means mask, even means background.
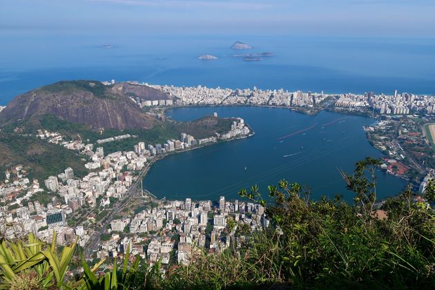
[[[0,32],[435,37],[434,0],[0,0]]]

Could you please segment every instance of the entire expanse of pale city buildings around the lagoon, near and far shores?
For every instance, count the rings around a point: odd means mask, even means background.
[[[115,81],[103,84],[112,86]],[[380,168],[420,186],[421,193],[434,176],[432,137],[430,131],[425,132],[435,108],[432,96],[151,87],[170,98],[130,99],[159,116],[173,106],[240,105],[285,107],[308,114],[329,109],[377,117],[364,130],[371,144],[385,153]],[[214,113],[213,118],[217,117]],[[81,138],[39,129],[33,137],[86,156],[82,161],[88,173],[77,177],[68,167],[46,180],[30,180],[21,164],[7,168],[0,182],[1,234],[14,238],[35,233],[49,242],[55,232],[59,245],[78,239],[87,258],[113,258],[128,250],[149,264],[160,262],[163,272],[174,263],[189,264],[202,250],[220,253],[229,247],[237,249],[249,239],[244,233],[268,226],[262,205],[226,200],[224,196],[218,201],[159,200],[142,188],[142,178],[153,162],[168,154],[253,134],[244,119],[234,119],[226,133],[202,139],[181,133],[179,139],[168,139],[164,144],[146,144],[139,136],[128,133],[87,143]],[[137,142],[131,151],[105,154],[102,145],[126,139]],[[233,238],[235,231],[239,233],[237,238]]]

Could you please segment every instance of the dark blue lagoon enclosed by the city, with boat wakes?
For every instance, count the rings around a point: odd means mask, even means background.
[[[169,199],[218,200],[220,195],[238,197],[240,189],[254,184],[267,193],[267,185],[285,179],[309,186],[314,200],[340,193],[350,202],[354,195],[347,191],[339,170],[351,173],[358,160],[381,156],[365,137],[362,126],[374,122],[368,117],[325,111],[308,116],[284,108],[249,107],[178,108],[167,114],[189,121],[213,112],[243,117],[255,135],[168,156],[144,178],[146,189]],[[307,128],[311,129],[284,137]],[[403,180],[385,173],[378,172],[377,179],[378,198],[396,195],[405,186]]]

